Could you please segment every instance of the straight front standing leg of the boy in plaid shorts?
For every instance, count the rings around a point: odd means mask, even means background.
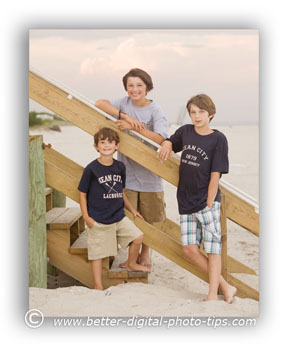
[[[221,256],[208,254],[209,292],[206,300],[217,300],[221,276]]]

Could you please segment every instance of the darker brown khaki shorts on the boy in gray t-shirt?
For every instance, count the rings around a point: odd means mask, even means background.
[[[125,195],[148,223],[166,219],[164,192],[139,192],[124,189]]]

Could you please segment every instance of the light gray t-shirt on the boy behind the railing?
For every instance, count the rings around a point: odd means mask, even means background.
[[[161,135],[164,139],[168,136],[168,121],[162,108],[152,101],[146,107],[136,107],[129,96],[121,99],[110,100],[110,103],[127,113],[131,117],[144,123],[147,130]],[[137,138],[137,137],[136,137]],[[145,143],[145,141],[142,141]],[[148,143],[145,143],[149,145]],[[148,169],[118,152],[118,160],[126,166],[126,189],[141,192],[163,191],[162,179]]]

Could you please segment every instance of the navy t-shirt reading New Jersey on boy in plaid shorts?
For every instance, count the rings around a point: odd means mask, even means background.
[[[225,135],[213,129],[209,135],[199,135],[194,125],[180,127],[167,140],[175,153],[182,151],[177,200],[179,214],[192,214],[207,206],[211,172],[228,173],[228,143]],[[215,201],[220,202],[220,189]]]

